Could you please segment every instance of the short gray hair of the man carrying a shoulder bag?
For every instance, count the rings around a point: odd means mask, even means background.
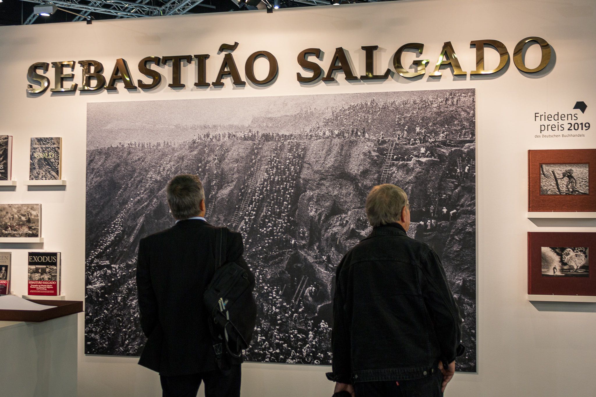
[[[193,174],[176,175],[167,184],[167,204],[174,218],[188,219],[201,213],[201,200],[205,199],[203,183]]]

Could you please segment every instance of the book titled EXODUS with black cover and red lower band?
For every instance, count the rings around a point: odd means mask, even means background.
[[[60,295],[60,252],[29,252],[27,295]]]

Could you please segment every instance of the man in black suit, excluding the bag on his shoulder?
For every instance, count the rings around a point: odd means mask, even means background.
[[[164,397],[195,397],[201,382],[207,397],[240,396],[240,364],[219,370],[203,293],[218,266],[219,228],[204,218],[200,179],[174,177],[167,202],[176,224],[139,242],[136,285],[141,328],[147,343],[139,364],[160,374]],[[236,262],[254,276],[242,258],[240,233],[227,232],[222,262]],[[219,247],[219,246],[218,246]]]

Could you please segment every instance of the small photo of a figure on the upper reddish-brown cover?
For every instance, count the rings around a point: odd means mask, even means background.
[[[589,194],[589,164],[541,164],[541,195]]]

